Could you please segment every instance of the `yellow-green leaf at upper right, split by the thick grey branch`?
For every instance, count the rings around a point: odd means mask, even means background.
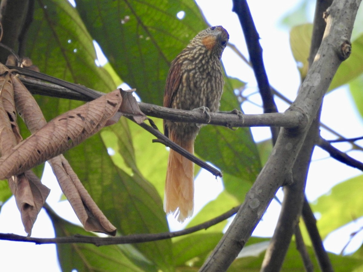
[[[302,78],[305,78],[309,57],[311,33],[313,25],[303,24],[295,26],[290,31],[290,46],[298,65]],[[343,61],[330,84],[329,91],[334,90],[363,73],[363,35],[360,35],[352,42],[352,53]]]

